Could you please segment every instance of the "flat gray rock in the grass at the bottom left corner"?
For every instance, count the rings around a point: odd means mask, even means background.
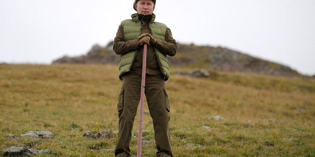
[[[18,146],[12,146],[10,148],[4,149],[1,151],[4,153],[4,156],[34,156],[34,155],[41,155],[41,154],[50,154],[51,150],[45,149],[45,150],[36,150],[32,147],[24,146],[24,145],[18,145]]]

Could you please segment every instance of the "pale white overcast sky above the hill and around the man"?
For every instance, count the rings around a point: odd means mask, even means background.
[[[50,64],[106,46],[133,0],[0,0],[0,63]],[[182,44],[221,46],[315,75],[315,0],[157,0]],[[175,56],[176,57],[176,56]]]

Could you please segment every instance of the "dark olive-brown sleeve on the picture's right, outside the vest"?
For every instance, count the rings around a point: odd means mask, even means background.
[[[166,29],[165,41],[158,40],[155,47],[165,55],[174,56],[177,52],[178,46],[176,40],[173,38],[170,28]]]

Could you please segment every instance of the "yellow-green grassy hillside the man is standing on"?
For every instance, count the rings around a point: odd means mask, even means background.
[[[173,67],[166,82],[175,157],[315,156],[314,80],[218,72],[191,78],[179,70],[192,69]],[[117,134],[82,135],[118,130],[117,75],[116,65],[0,65],[0,150],[24,144],[52,151],[41,157],[113,157]],[[154,157],[148,114],[143,128],[143,157]],[[29,131],[50,131],[54,138],[19,137]],[[18,139],[4,138],[8,133]],[[131,145],[135,157],[136,137]]]

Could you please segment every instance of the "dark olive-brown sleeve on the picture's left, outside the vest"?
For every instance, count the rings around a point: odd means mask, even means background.
[[[118,27],[116,37],[114,39],[114,52],[116,54],[126,54],[137,49],[137,39],[125,41],[124,27]]]

